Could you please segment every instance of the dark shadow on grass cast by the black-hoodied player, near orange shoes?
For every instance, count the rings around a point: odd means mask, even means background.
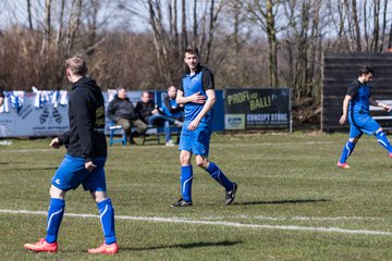
[[[217,243],[189,243],[189,244],[174,244],[168,246],[157,246],[157,247],[145,247],[145,248],[123,248],[121,247],[121,251],[147,251],[147,250],[157,250],[157,249],[171,249],[171,248],[183,248],[183,249],[192,249],[192,248],[204,248],[204,247],[231,247],[234,245],[242,244],[243,241],[217,241]]]

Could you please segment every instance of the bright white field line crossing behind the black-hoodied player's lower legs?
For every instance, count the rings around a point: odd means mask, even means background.
[[[0,210],[0,213],[47,215],[46,211],[28,211],[28,210]],[[65,213],[65,215],[73,216],[73,217],[84,217],[84,219],[99,219],[99,215],[95,215],[95,214]],[[260,229],[326,232],[326,233],[341,233],[341,234],[392,236],[391,232],[366,231],[366,229],[345,229],[345,228],[340,228],[340,227],[261,225],[261,224],[243,224],[243,223],[237,223],[237,222],[224,222],[224,221],[203,221],[203,220],[189,220],[189,219],[179,219],[179,217],[132,216],[132,215],[117,215],[115,219],[117,220],[158,222],[158,223],[182,223],[182,224],[215,225],[215,226],[230,226],[230,227],[245,227],[245,228],[260,228]]]

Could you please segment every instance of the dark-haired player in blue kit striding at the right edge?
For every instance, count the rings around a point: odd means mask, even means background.
[[[372,80],[373,76],[375,71],[371,67],[362,67],[358,79],[348,86],[347,94],[344,98],[343,115],[339,122],[340,124],[344,124],[348,119],[350,138],[344,145],[341,159],[338,162],[338,166],[341,169],[350,169],[350,165],[346,163],[347,158],[353,153],[355,145],[364,133],[375,135],[377,141],[388,150],[389,156],[392,158],[392,146],[390,141],[380,125],[369,114],[369,105],[381,107],[387,111],[391,110],[390,105],[371,98],[368,83]]]

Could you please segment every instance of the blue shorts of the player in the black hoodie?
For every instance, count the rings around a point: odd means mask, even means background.
[[[85,190],[106,191],[105,162],[106,157],[95,158],[93,163],[97,167],[89,172],[85,169],[83,158],[66,154],[52,178],[52,184],[64,191],[76,189],[81,184]]]

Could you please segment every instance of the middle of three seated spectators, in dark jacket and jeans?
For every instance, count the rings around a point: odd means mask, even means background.
[[[135,112],[144,123],[148,124],[148,126],[163,126],[166,145],[174,145],[171,139],[170,124],[181,127],[182,122],[163,115],[154,100],[150,99],[148,91],[142,92],[142,100],[137,101]]]

